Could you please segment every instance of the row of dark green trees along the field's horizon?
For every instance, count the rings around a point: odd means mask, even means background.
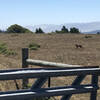
[[[34,32],[32,32],[31,30],[24,28],[20,25],[14,24],[14,25],[11,25],[10,27],[8,27],[6,31],[0,30],[0,33],[34,33]],[[43,34],[45,32],[41,28],[36,28],[35,33],[36,34],[41,34],[41,33]],[[63,26],[61,28],[61,30],[56,30],[55,32],[51,32],[51,33],[57,33],[57,34],[77,33],[77,34],[79,34],[80,31],[78,28],[75,28],[75,27],[72,27],[72,28],[70,28],[70,30],[68,30],[65,26]]]

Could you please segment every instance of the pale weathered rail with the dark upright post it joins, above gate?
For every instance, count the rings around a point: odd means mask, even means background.
[[[82,65],[69,65],[69,64],[29,59],[29,49],[24,48],[22,49],[22,66],[23,68],[27,68],[28,65],[38,65],[43,67],[82,67]]]

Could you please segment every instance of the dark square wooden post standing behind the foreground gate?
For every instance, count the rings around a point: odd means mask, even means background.
[[[28,68],[26,60],[28,59],[28,48],[22,49],[22,68]],[[23,79],[22,88],[25,89],[28,87],[28,79]]]

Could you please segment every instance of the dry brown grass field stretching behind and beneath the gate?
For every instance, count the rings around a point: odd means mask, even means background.
[[[0,69],[21,68],[21,49],[28,47],[30,43],[37,43],[41,46],[38,50],[30,51],[32,59],[99,66],[100,35],[89,35],[91,36],[89,38],[85,36],[83,34],[0,34],[0,43],[5,43],[9,50],[17,53],[11,56],[0,54]],[[82,48],[76,48],[75,44],[82,45]],[[70,84],[73,79],[73,77],[52,79],[52,86]],[[85,79],[84,83],[89,81],[90,76]],[[18,83],[20,85],[19,81]],[[1,82],[0,90],[8,89],[15,89],[13,81]],[[74,95],[71,100],[89,100],[89,94]],[[100,100],[100,92],[98,92],[98,100]]]

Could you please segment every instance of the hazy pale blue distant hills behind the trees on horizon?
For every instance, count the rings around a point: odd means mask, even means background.
[[[55,30],[60,30],[62,26],[66,26],[68,29],[71,27],[79,28],[82,33],[93,32],[95,30],[100,30],[100,22],[91,22],[91,23],[65,23],[61,25],[54,25],[54,24],[42,24],[42,25],[35,25],[35,26],[26,26],[32,31],[35,31],[36,28],[41,27],[45,32],[52,32]]]

